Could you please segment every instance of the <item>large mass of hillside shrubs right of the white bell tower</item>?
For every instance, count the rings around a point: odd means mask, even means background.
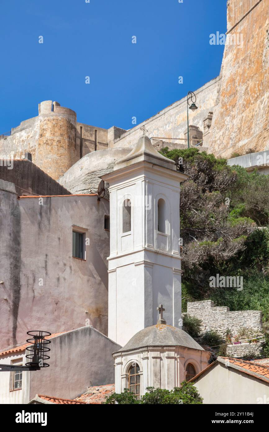
[[[228,166],[197,148],[162,153],[182,158],[180,170],[190,176],[180,195],[183,311],[187,302],[211,299],[231,311],[260,310],[269,321],[269,175]],[[243,290],[209,287],[217,273],[243,276]],[[184,325],[199,334],[186,318]]]

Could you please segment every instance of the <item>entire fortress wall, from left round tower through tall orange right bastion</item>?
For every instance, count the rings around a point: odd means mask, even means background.
[[[203,143],[199,150],[229,158],[235,151],[269,149],[268,11],[269,0],[227,2],[228,35],[242,35],[243,45],[226,43],[220,75],[195,91],[198,109],[189,110],[190,144]],[[186,97],[130,130],[79,123],[75,111],[44,101],[37,117],[22,121],[10,136],[0,134],[0,156],[14,152],[14,159],[22,159],[29,152],[35,165],[58,179],[91,152],[131,148],[142,125],[158,150],[186,148]],[[84,189],[89,188],[90,181]]]

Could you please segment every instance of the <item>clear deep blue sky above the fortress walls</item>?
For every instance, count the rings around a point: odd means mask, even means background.
[[[0,0],[0,16],[0,134],[43,100],[129,129],[220,72],[226,0]]]

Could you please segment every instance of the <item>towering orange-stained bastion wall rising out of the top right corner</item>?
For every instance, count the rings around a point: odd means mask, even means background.
[[[225,157],[269,149],[269,0],[228,0],[227,37],[209,140]]]

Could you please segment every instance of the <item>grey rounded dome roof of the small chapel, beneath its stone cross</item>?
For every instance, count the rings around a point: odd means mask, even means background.
[[[168,324],[155,324],[140,330],[120,351],[130,351],[143,346],[185,346],[204,351],[186,331]]]

